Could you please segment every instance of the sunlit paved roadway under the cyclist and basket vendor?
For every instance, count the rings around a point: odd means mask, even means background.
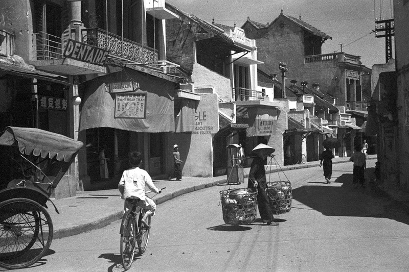
[[[375,160],[368,161],[368,168]],[[370,170],[370,169],[369,169]],[[280,173],[283,175],[283,173]],[[286,171],[292,209],[280,226],[225,225],[221,185],[158,205],[146,253],[130,271],[403,271],[409,265],[409,216],[371,186],[352,184],[352,163]],[[277,174],[271,174],[275,180]],[[283,180],[283,176],[281,176]],[[232,187],[240,187],[238,185]],[[119,225],[56,239],[30,271],[122,271]],[[73,260],[76,260],[73,262]]]

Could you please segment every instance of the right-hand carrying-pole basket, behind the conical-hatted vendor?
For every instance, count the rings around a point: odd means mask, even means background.
[[[292,191],[289,181],[267,183],[267,195],[272,213],[283,214],[291,210]]]

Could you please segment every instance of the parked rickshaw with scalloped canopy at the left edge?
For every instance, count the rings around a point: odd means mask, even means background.
[[[50,248],[53,222],[47,202],[83,143],[40,129],[7,127],[0,145],[7,146],[21,174],[0,190],[0,266],[24,268]]]

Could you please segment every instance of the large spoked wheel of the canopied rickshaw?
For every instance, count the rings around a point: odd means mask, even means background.
[[[0,266],[25,268],[50,248],[53,222],[40,204],[25,198],[0,203]]]

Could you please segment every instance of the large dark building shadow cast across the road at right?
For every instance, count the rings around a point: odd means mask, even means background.
[[[374,185],[368,184],[373,178],[373,170],[368,168],[365,172],[366,188],[352,184],[351,172],[339,176],[331,184],[311,182],[292,189],[292,197],[327,216],[381,217],[409,225],[407,206],[389,199]]]

